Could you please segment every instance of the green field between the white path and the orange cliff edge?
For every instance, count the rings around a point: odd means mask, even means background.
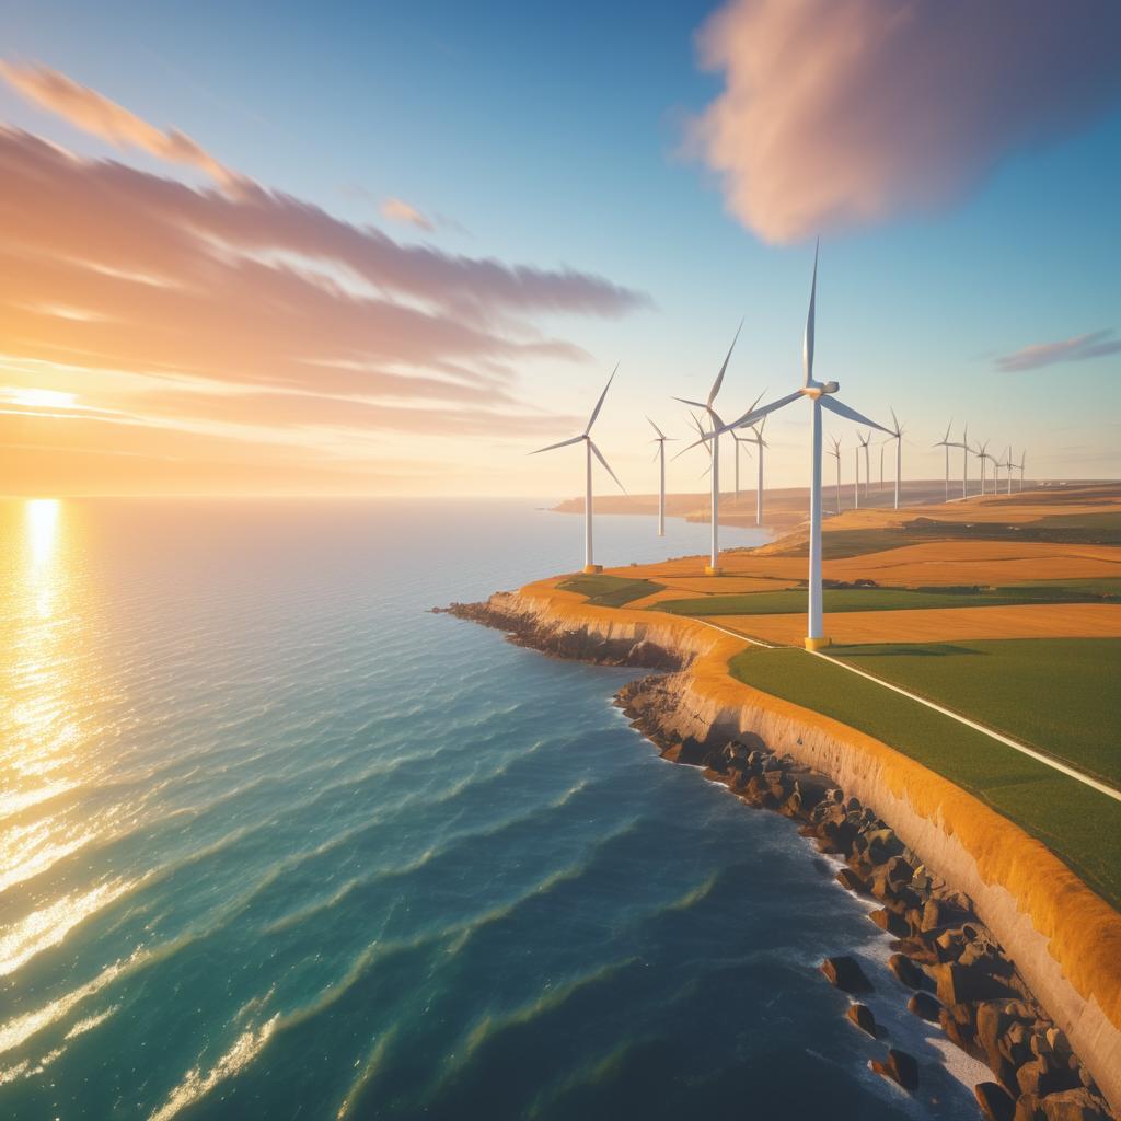
[[[1026,641],[1049,645],[1051,640]],[[1046,664],[1047,659],[1039,661]],[[969,673],[966,661],[958,665]],[[804,650],[751,648],[732,659],[730,670],[766,693],[867,732],[956,782],[1047,844],[1104,899],[1121,907],[1121,803]],[[869,671],[873,671],[871,667]],[[1096,679],[1109,676],[1102,667]],[[1115,684],[1115,673],[1112,677]],[[1050,685],[1032,703],[1057,703],[1063,712],[1056,714],[1056,721],[1072,720],[1077,702],[1060,700],[1062,691],[1062,684]],[[1111,703],[1115,705],[1111,693],[1099,693],[1091,711],[1100,714]],[[956,711],[958,705],[953,707]],[[1085,716],[1080,714],[1076,722],[1083,726]]]

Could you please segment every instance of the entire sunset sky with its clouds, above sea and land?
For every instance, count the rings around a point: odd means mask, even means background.
[[[41,0],[0,44],[0,493],[563,497],[581,450],[528,453],[617,363],[650,492],[741,319],[725,416],[800,382],[817,237],[815,373],[906,474],[951,421],[1121,474],[1113,0]]]

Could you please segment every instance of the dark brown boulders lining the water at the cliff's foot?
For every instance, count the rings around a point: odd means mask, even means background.
[[[661,670],[680,670],[692,657],[643,636],[558,626],[525,611],[515,595],[447,610],[557,657]],[[624,686],[617,703],[664,758],[702,767],[747,805],[799,822],[799,832],[822,853],[843,861],[837,880],[879,904],[870,918],[895,938],[889,966],[899,982],[899,999],[912,1015],[939,1023],[953,1044],[992,1071],[992,1081],[975,1088],[982,1115],[993,1121],[1112,1118],[1067,1035],[1048,1017],[973,901],[828,776],[772,750],[759,735],[730,736],[683,712],[688,704],[683,676],[642,677]],[[822,972],[852,998],[849,1018],[880,1039],[882,1029],[860,1002],[871,982],[859,963],[839,954],[822,963]],[[884,1046],[870,1066],[908,1092],[921,1082],[916,1059],[893,1047]]]

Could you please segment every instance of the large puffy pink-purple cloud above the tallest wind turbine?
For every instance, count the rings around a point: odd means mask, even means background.
[[[1115,0],[731,0],[689,147],[769,242],[932,212],[1121,92]]]

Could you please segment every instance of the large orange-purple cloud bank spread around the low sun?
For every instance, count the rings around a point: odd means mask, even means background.
[[[65,492],[65,464],[83,492],[398,489],[455,441],[576,423],[519,399],[530,364],[589,356],[537,316],[649,305],[592,274],[402,244],[256,184],[194,188],[3,127],[0,201],[0,272],[18,278],[0,287],[0,447],[9,479],[44,491]]]

